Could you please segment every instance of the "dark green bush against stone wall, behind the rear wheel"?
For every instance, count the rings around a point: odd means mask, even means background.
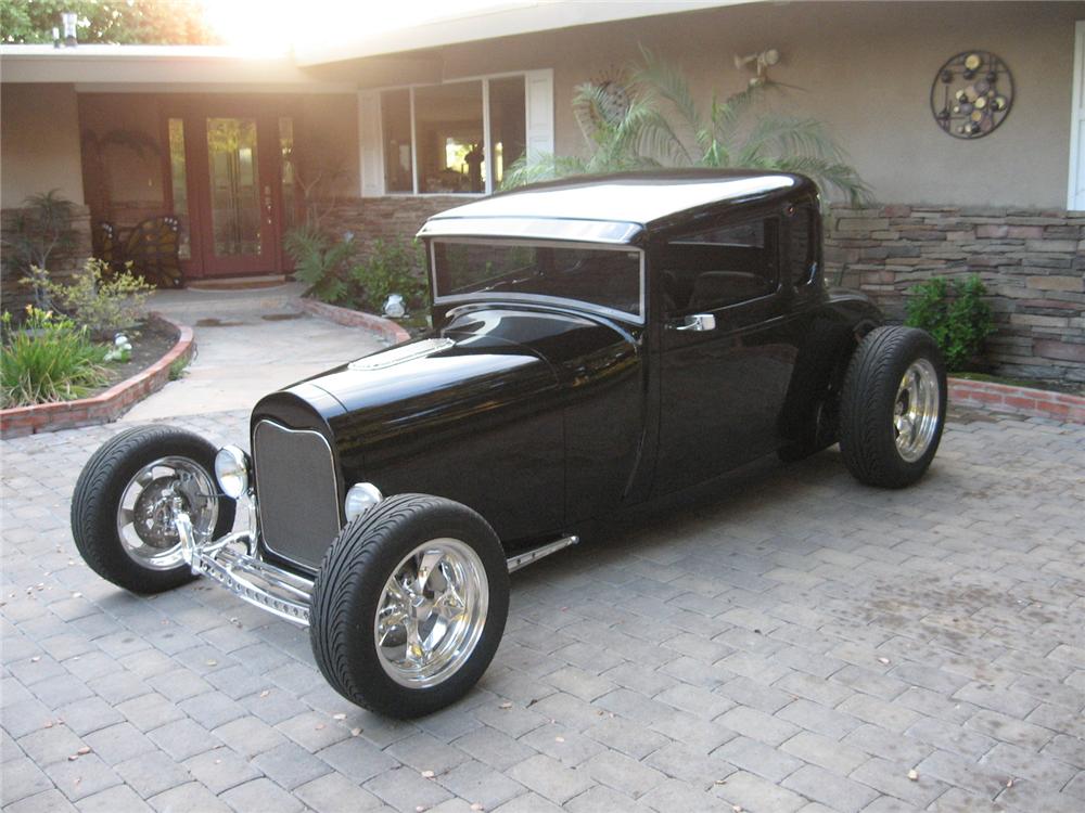
[[[991,306],[983,300],[986,286],[976,274],[952,283],[935,276],[914,285],[905,304],[905,324],[930,333],[950,371],[963,370],[994,333]]]

